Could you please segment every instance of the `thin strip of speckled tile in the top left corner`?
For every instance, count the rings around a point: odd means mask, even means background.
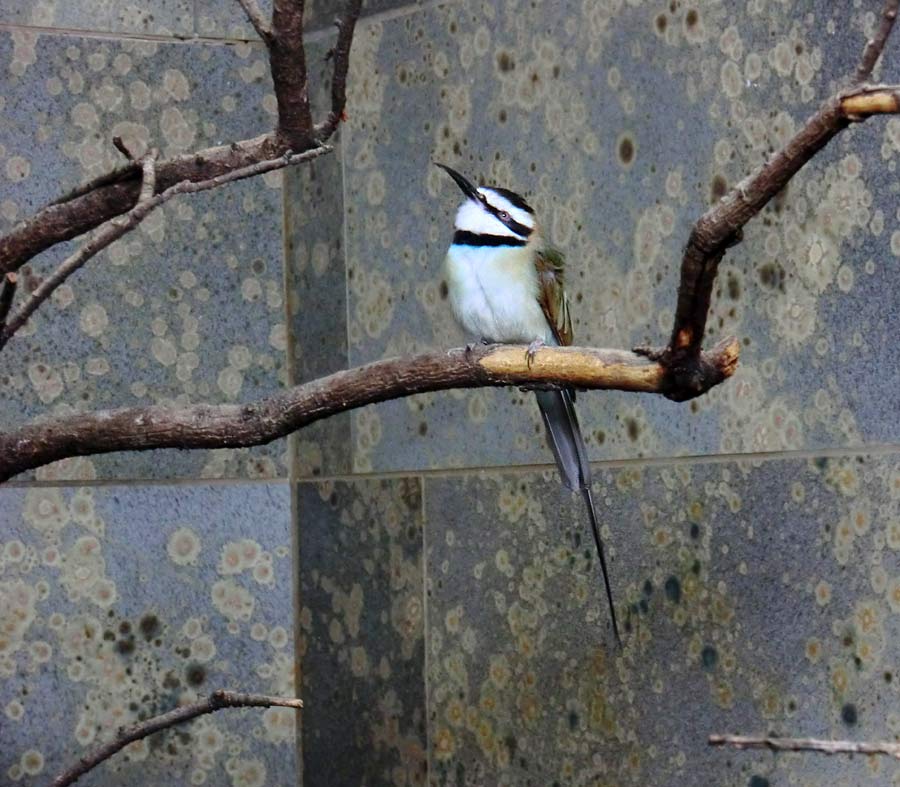
[[[99,33],[186,37],[194,32],[193,0],[0,0],[0,22]]]

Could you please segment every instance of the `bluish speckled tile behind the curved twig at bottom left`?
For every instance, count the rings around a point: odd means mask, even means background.
[[[294,691],[287,485],[0,490],[0,782],[218,688]],[[79,784],[286,785],[294,711],[226,710]]]

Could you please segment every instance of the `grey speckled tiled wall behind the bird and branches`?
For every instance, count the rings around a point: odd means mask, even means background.
[[[321,104],[333,0],[310,8]],[[335,155],[169,203],[0,360],[0,426],[252,399],[467,338],[458,190],[525,193],[576,340],[659,343],[693,220],[852,73],[879,0],[372,3]],[[104,171],[273,120],[229,0],[0,0],[0,231]],[[900,81],[900,43],[876,71]],[[0,489],[0,782],[214,688],[290,693],[85,784],[900,784],[710,733],[900,736],[900,119],[845,132],[722,265],[734,379],[579,397],[626,629],[532,397],[429,394],[253,450],[73,460]],[[43,271],[67,249],[35,261]],[[297,682],[299,679],[299,682]]]

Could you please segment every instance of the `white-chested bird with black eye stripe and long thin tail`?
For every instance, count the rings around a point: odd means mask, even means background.
[[[541,234],[534,209],[506,188],[475,186],[446,164],[434,162],[465,199],[456,212],[444,262],[448,297],[457,322],[485,343],[527,344],[527,361],[543,346],[572,343],[565,292],[565,259]],[[570,388],[535,391],[547,438],[563,483],[584,497],[610,620],[621,644],[609,572],[591,495],[591,468]]]

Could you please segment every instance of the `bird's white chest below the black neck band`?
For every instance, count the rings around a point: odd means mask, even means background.
[[[528,247],[450,247],[446,260],[450,304],[467,332],[488,341],[553,342],[538,302],[533,255]]]

